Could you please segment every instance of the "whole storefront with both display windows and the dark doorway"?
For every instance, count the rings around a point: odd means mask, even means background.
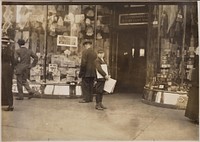
[[[187,100],[198,46],[196,3],[3,3],[2,10],[3,30],[14,41],[25,39],[40,58],[30,80],[42,94],[81,95],[70,84],[80,81],[82,43],[89,39],[106,51],[116,92],[141,93],[149,103]]]

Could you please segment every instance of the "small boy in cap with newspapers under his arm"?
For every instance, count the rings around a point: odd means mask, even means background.
[[[106,109],[105,106],[102,104],[103,100],[103,92],[104,92],[104,84],[105,81],[109,79],[108,75],[108,68],[107,68],[107,63],[104,59],[105,53],[103,49],[99,49],[97,51],[97,59],[95,61],[96,64],[96,70],[97,70],[97,83],[95,84],[95,89],[96,89],[96,109],[97,110],[103,110]],[[102,68],[102,65],[106,68]],[[107,70],[107,71],[106,71]],[[99,75],[101,77],[99,77]]]

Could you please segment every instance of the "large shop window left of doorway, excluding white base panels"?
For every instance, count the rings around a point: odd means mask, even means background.
[[[78,81],[85,39],[95,50],[104,48],[109,60],[111,13],[103,5],[3,5],[2,23],[12,39],[23,38],[39,57],[30,81],[66,84]]]

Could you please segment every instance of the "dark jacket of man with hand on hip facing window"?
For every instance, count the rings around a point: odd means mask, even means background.
[[[32,63],[31,57],[33,58]],[[22,74],[22,72],[26,69],[36,66],[38,57],[32,50],[27,49],[26,47],[20,47],[20,49],[16,50],[15,52],[15,60],[17,62],[15,74]]]

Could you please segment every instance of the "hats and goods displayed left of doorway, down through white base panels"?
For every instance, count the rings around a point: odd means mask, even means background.
[[[30,24],[19,22],[19,26],[16,26],[15,38],[23,37],[26,47],[36,52],[39,57],[38,64],[30,70],[30,84],[33,86],[40,84],[40,92],[47,94],[70,95],[76,92],[80,95],[78,72],[81,54],[84,50],[82,43],[85,39],[90,39],[94,49],[97,46],[104,48],[105,43],[109,45],[108,25],[110,23],[104,22],[102,18],[99,18],[98,23],[95,20],[99,16],[110,16],[110,10],[106,6],[96,5],[48,5],[46,8],[39,5],[24,5],[17,8],[21,11],[31,11],[29,16],[32,19]],[[103,12],[104,9],[107,13]],[[44,18],[45,13],[47,21]],[[24,12],[18,13],[18,15],[21,17]],[[46,44],[44,42],[45,23],[47,24]],[[107,25],[103,23],[107,23]],[[98,33],[97,29],[99,29]],[[16,47],[18,47],[17,44]],[[105,48],[109,50],[109,47]],[[109,58],[108,55],[107,58]],[[49,85],[53,87],[49,87]],[[66,92],[60,92],[62,89],[59,88],[62,86],[66,87],[63,89]],[[52,88],[53,90],[51,90]],[[17,92],[15,83],[13,90],[15,93]]]

